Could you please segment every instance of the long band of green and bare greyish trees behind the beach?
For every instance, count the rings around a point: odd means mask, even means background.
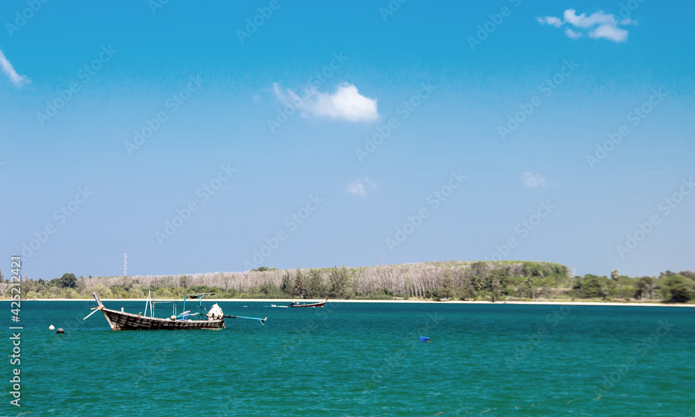
[[[1,272],[0,272],[1,274]],[[1,275],[0,275],[1,277]],[[370,267],[278,270],[139,277],[75,277],[22,282],[32,298],[183,298],[215,293],[218,298],[334,300],[695,300],[695,275],[662,272],[658,277],[572,276],[559,263],[531,261],[427,262]],[[1,280],[1,278],[0,278]]]

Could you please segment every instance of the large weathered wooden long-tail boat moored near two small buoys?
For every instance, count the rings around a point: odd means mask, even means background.
[[[211,294],[190,294],[183,298],[183,309],[186,309],[186,299],[197,299],[202,300],[204,295]],[[262,325],[268,318],[255,318],[255,317],[243,317],[243,316],[229,316],[222,313],[222,309],[218,304],[213,304],[208,313],[202,313],[202,302],[200,303],[200,317],[201,320],[190,320],[189,317],[198,316],[198,313],[190,313],[190,311],[183,311],[181,314],[176,313],[176,301],[173,301],[173,313],[170,318],[158,318],[154,317],[153,306],[154,302],[150,300],[149,295],[147,296],[147,304],[145,304],[145,314],[142,313],[133,314],[126,313],[121,309],[121,311],[107,309],[104,304],[101,303],[99,295],[94,293],[94,299],[97,301],[97,306],[93,309],[87,317],[92,316],[92,314],[97,311],[104,313],[104,318],[106,322],[111,327],[111,330],[189,330],[189,329],[224,329],[224,318],[248,318],[252,320],[259,320]],[[150,309],[150,316],[147,316],[147,307]],[[85,317],[83,320],[85,320]],[[205,319],[202,319],[202,318]]]

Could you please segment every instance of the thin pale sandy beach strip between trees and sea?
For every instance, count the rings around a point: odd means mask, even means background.
[[[290,302],[320,302],[322,300],[297,300],[292,298],[210,298],[204,299],[205,302],[268,302],[270,304],[284,304]],[[11,300],[0,300],[0,302],[10,302]],[[33,300],[22,300],[22,302],[31,301],[91,301],[94,302],[93,298],[36,298]],[[142,302],[147,301],[146,298],[104,298],[101,301],[115,302],[115,301],[126,301],[126,302]],[[157,302],[167,302],[172,301],[170,299],[164,298],[153,298],[152,301]],[[181,301],[181,300],[177,300]],[[432,301],[432,300],[328,300],[328,302],[348,302],[348,303],[365,303],[365,302],[377,302],[385,304],[531,304],[531,305],[568,305],[568,306],[645,306],[645,307],[695,307],[695,304],[667,304],[667,303],[657,303],[657,302],[600,302],[600,301]]]

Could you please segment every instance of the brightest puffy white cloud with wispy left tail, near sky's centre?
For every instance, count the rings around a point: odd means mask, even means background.
[[[338,85],[333,94],[320,92],[311,86],[297,95],[293,90],[284,92],[277,83],[272,84],[275,96],[283,104],[294,104],[304,117],[328,117],[331,120],[368,122],[379,117],[377,100],[359,94],[352,84]]]

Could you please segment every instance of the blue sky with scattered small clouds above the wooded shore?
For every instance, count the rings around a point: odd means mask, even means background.
[[[0,253],[33,279],[693,267],[691,3],[155,1],[0,8]]]

